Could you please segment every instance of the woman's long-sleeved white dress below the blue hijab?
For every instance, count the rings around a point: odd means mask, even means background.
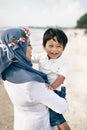
[[[14,130],[56,130],[50,127],[48,107],[58,113],[67,110],[67,103],[44,83],[36,81],[14,84],[4,81],[14,108]]]

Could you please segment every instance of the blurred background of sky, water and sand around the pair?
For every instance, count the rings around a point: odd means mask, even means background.
[[[70,111],[65,117],[72,130],[86,130],[87,1],[0,0],[0,34],[7,28],[22,26],[30,28],[34,53],[43,51],[42,37],[47,28],[61,28],[67,34],[64,55],[69,61],[66,87]],[[0,130],[13,130],[13,120],[13,106],[0,80]]]

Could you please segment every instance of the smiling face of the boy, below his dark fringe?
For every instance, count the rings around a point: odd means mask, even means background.
[[[63,53],[63,45],[56,40],[48,40],[45,47],[45,51],[50,59],[56,59]]]

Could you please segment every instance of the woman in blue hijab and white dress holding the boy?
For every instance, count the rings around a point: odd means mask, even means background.
[[[26,28],[7,29],[1,34],[7,50],[4,56],[11,59],[9,66],[3,63],[1,76],[14,107],[14,130],[51,130],[48,107],[63,113],[67,103],[46,87],[46,75],[32,68],[29,35]]]

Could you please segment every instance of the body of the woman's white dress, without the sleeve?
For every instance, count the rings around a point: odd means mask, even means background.
[[[14,105],[14,130],[50,130],[48,108],[32,97],[32,82],[4,86]]]

